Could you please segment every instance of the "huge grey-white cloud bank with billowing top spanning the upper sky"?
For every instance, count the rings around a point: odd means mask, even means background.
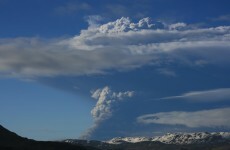
[[[0,39],[0,73],[16,77],[101,74],[111,69],[123,71],[166,64],[169,60],[192,66],[200,60],[207,64],[230,64],[229,26],[184,26],[170,26],[150,18],[137,23],[121,18],[101,26],[92,25],[72,38]]]

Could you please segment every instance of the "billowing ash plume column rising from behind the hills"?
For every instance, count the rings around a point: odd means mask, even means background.
[[[115,104],[134,96],[134,91],[113,92],[108,86],[91,92],[91,97],[97,100],[91,114],[94,118],[93,126],[81,138],[90,138],[91,134],[104,120],[110,118],[115,110]]]

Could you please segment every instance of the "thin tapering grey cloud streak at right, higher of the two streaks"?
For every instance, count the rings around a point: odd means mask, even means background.
[[[207,91],[192,91],[179,96],[161,99],[185,99],[193,102],[215,102],[230,100],[230,88],[212,89]]]

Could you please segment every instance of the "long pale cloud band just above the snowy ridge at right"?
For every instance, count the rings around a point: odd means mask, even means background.
[[[143,124],[185,125],[187,127],[230,128],[230,108],[201,110],[194,112],[172,111],[147,114],[137,118]]]

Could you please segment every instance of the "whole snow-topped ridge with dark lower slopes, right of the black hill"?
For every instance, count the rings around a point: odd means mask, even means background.
[[[117,137],[108,141],[67,139],[63,142],[102,150],[230,150],[230,132],[168,133],[159,137]]]

